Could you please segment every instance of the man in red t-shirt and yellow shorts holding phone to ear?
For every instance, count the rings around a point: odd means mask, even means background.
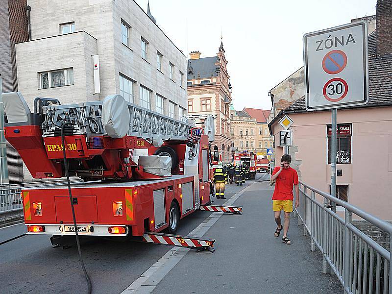
[[[284,210],[285,223],[282,242],[291,245],[293,242],[287,238],[287,232],[290,226],[290,213],[293,211],[293,186],[295,187],[295,207],[299,206],[299,189],[298,189],[298,174],[290,167],[291,155],[285,154],[282,156],[280,167],[276,167],[271,176],[271,181],[276,179],[275,190],[272,195],[272,210],[275,214],[275,222],[278,227],[275,230],[275,237],[279,237],[283,226],[280,221],[280,211]]]

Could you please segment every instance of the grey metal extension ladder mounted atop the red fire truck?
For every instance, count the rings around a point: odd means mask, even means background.
[[[84,102],[70,105],[44,106],[42,112],[45,121],[42,123],[43,137],[59,136],[62,124],[72,123],[68,134],[87,137],[107,135],[102,123],[103,101]],[[126,102],[129,113],[128,136],[152,139],[159,136],[162,140],[186,140],[193,124],[185,123],[146,109],[139,105]]]

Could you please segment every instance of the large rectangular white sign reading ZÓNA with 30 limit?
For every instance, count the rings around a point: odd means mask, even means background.
[[[368,25],[340,25],[303,36],[306,110],[368,103]]]

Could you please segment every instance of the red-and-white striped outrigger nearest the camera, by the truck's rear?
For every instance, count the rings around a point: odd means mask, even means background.
[[[213,248],[215,240],[189,236],[145,232],[142,242],[190,248],[196,250],[196,253],[213,253],[215,251]]]

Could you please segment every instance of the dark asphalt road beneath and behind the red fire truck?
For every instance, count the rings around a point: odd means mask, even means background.
[[[265,175],[265,174],[263,174]],[[250,185],[247,183],[245,185]],[[243,187],[228,185],[226,197]],[[215,204],[224,200],[216,200]],[[197,211],[180,221],[187,235],[211,213]],[[0,242],[25,232],[18,224],[0,229]],[[94,239],[82,242],[83,260],[94,294],[121,293],[172,247]],[[0,245],[0,293],[86,293],[76,246],[52,248],[49,236],[26,235]]]

